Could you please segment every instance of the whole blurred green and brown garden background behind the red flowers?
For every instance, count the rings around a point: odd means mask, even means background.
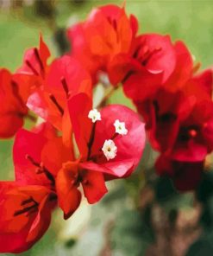
[[[122,1],[0,0],[0,67],[15,71],[24,50],[38,45],[40,32],[58,56],[66,48],[64,29],[105,3]],[[170,34],[173,41],[181,39],[188,45],[203,68],[213,63],[212,1],[127,0],[126,9],[138,18],[140,32]],[[133,107],[122,91],[110,102]],[[2,180],[13,179],[12,145],[13,140],[0,141]],[[154,175],[156,156],[147,144],[134,176],[109,183],[110,193],[102,202],[95,206],[83,202],[70,221],[55,212],[47,234],[22,255],[213,255],[211,171],[195,193],[180,195],[170,180]]]

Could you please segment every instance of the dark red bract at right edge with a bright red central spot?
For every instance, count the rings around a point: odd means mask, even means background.
[[[179,125],[172,148],[172,157],[180,161],[202,161],[213,150],[213,103],[194,106],[191,114]]]

